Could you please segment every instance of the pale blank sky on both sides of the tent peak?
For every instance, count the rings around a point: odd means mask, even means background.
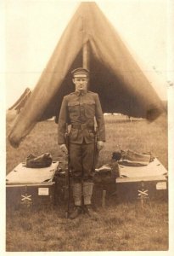
[[[166,99],[167,1],[96,1],[160,98]],[[31,90],[79,1],[6,0],[6,107]]]

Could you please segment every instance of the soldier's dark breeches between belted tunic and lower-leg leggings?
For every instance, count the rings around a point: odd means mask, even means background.
[[[93,181],[94,143],[70,143],[70,170],[74,183]]]

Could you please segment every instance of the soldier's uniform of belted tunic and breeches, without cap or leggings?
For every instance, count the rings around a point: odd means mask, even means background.
[[[65,96],[59,113],[59,144],[65,144],[66,124],[69,134],[70,167],[74,180],[93,179],[94,119],[98,124],[98,141],[105,141],[104,114],[98,94],[75,91]]]

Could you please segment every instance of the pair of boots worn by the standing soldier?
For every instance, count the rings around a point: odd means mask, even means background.
[[[73,212],[70,212],[69,218],[77,218],[81,213],[86,213],[88,217],[98,219],[98,213],[93,211],[91,205],[75,206]]]

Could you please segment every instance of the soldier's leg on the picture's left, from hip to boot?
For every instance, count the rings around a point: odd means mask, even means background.
[[[81,145],[70,143],[70,169],[72,171],[72,191],[74,198],[74,210],[70,218],[76,218],[81,213],[82,187],[81,187]]]

